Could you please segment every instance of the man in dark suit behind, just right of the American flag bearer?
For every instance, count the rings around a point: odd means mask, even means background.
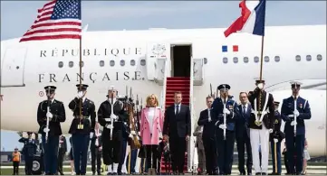
[[[95,162],[97,162],[97,173],[101,175],[101,156],[102,156],[102,143],[101,143],[101,130],[99,129],[99,122],[95,123],[94,134],[91,134],[91,170],[95,175]]]

